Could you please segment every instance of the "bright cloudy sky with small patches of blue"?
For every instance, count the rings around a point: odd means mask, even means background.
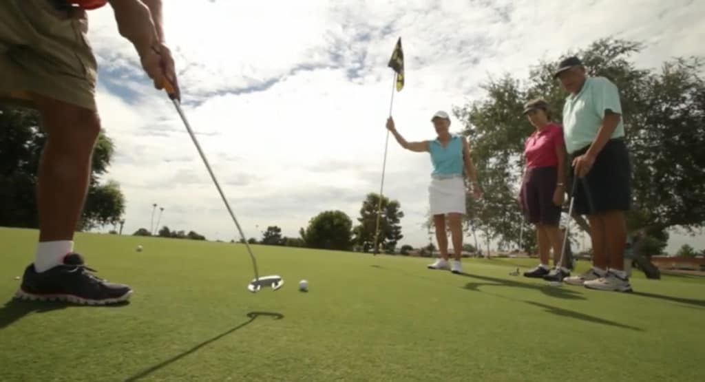
[[[704,53],[700,0],[164,3],[185,113],[248,237],[269,225],[297,236],[327,209],[355,219],[364,196],[379,192],[393,81],[386,63],[398,37],[406,85],[393,116],[407,140],[432,138],[431,115],[482,97],[489,76],[523,76],[595,39],[644,42],[644,68]],[[236,238],[176,111],[142,75],[111,8],[90,13],[90,39],[99,111],[117,147],[108,178],[128,202],[125,231],[148,228],[157,203],[160,226]],[[427,154],[391,138],[384,193],[405,213],[402,243],[428,242],[430,171]]]

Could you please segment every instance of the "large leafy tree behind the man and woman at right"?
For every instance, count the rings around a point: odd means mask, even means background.
[[[635,42],[601,39],[566,55],[580,56],[589,75],[609,78],[620,90],[633,164],[633,204],[627,217],[630,235],[635,238],[639,266],[650,278],[658,278],[658,269],[644,257],[644,240],[674,226],[692,231],[705,222],[705,206],[699,202],[705,197],[705,150],[701,149],[705,144],[705,84],[700,58],[675,58],[660,70],[644,70],[630,61],[642,49]],[[486,99],[455,108],[455,115],[465,122],[483,185],[482,176],[489,175],[491,182],[505,183],[501,191],[517,189],[523,144],[532,133],[521,112],[527,99],[543,97],[551,105],[553,119],[560,121],[566,94],[553,79],[556,65],[540,61],[525,80],[512,75],[490,79],[482,86]],[[481,214],[479,220],[491,227],[489,233],[514,241],[517,230],[505,226],[505,206],[491,200],[482,203],[488,206],[481,213],[490,213]],[[584,218],[573,218],[589,232]]]

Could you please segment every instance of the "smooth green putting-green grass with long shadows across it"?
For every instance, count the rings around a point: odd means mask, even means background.
[[[620,294],[508,275],[530,260],[466,260],[453,275],[429,259],[256,246],[261,273],[286,283],[252,294],[243,245],[80,234],[98,276],[133,286],[130,304],[10,302],[36,237],[0,228],[1,381],[703,378],[701,278],[635,275]]]

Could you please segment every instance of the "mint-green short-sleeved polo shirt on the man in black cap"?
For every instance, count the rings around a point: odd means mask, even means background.
[[[578,94],[570,94],[563,105],[563,137],[568,154],[589,146],[597,137],[597,131],[605,118],[605,111],[622,113],[619,90],[607,78],[585,79]],[[612,138],[624,136],[621,119]]]

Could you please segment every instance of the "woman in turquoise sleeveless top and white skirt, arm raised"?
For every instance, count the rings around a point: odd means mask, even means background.
[[[407,142],[394,125],[393,118],[387,120],[389,130],[401,147],[412,152],[429,152],[434,171],[431,173],[429,185],[429,204],[431,215],[434,216],[436,240],[438,241],[441,258],[429,269],[450,269],[453,273],[461,273],[460,254],[462,253],[462,216],[465,215],[466,191],[463,173],[472,184],[472,195],[480,197],[477,185],[477,172],[470,158],[470,145],[460,135],[450,134],[450,118],[445,111],[439,111],[431,118],[436,129],[436,139],[422,142]],[[448,264],[448,236],[446,235],[446,217],[448,228],[453,238],[453,264]]]

